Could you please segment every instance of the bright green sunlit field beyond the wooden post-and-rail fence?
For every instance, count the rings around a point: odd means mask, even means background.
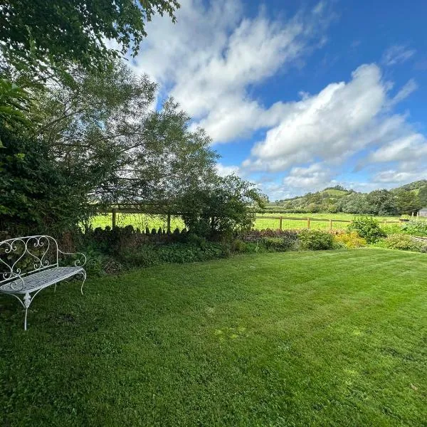
[[[283,218],[302,218],[301,221],[295,220],[287,220],[283,219],[282,228],[283,229],[300,229],[307,228],[307,217],[310,218],[322,218],[322,219],[337,219],[337,220],[347,220],[351,221],[354,218],[353,214],[258,214],[258,216],[269,216],[273,218],[278,218],[279,216],[283,216]],[[398,216],[377,216],[379,221],[399,221]],[[261,230],[263,228],[279,228],[280,221],[278,219],[257,219],[255,221],[255,228]],[[95,216],[92,220],[92,225],[94,228],[112,225],[112,217],[111,214],[108,215],[98,215]],[[145,230],[148,227],[151,231],[152,228],[159,229],[159,227],[166,228],[167,220],[166,216],[159,215],[147,215],[147,214],[117,214],[117,225],[118,226],[127,226],[132,225],[135,228],[140,228],[141,230]],[[339,223],[332,222],[332,229],[339,230],[342,228],[346,228],[348,223]],[[395,224],[394,227],[399,227],[399,224]],[[171,221],[172,230],[174,228],[182,229],[184,228],[184,221],[179,217],[172,217]],[[328,229],[330,228],[329,221],[310,221],[310,228],[314,229]]]

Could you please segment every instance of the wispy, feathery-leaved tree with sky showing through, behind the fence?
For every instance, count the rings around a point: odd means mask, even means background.
[[[176,201],[215,175],[217,154],[203,130],[173,100],[153,110],[156,85],[125,65],[74,75],[42,91],[34,120],[58,167],[85,189],[92,204]],[[166,208],[164,208],[166,210]]]

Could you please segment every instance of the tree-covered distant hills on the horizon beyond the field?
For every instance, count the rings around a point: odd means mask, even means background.
[[[350,214],[411,214],[427,206],[427,179],[411,182],[396,189],[379,189],[360,193],[342,186],[327,187],[304,196],[283,199],[268,204],[269,212],[347,212]]]

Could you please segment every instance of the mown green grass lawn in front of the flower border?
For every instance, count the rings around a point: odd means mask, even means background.
[[[241,255],[0,296],[1,426],[426,426],[427,257]]]

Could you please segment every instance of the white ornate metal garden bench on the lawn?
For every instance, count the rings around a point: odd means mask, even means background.
[[[74,265],[61,267],[59,258],[62,255],[73,255],[77,258]],[[57,241],[51,236],[17,237],[0,242],[0,292],[13,295],[21,302],[25,309],[24,330],[28,307],[42,289],[55,285],[56,290],[56,283],[82,275],[80,292],[83,295],[85,263],[86,257],[83,253],[60,251]]]

